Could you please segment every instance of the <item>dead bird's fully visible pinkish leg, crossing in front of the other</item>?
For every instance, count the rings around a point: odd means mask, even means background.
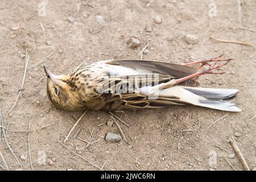
[[[218,63],[218,61],[216,61],[215,63],[213,63],[212,65],[209,65],[208,67],[204,68],[204,69],[199,69],[199,71],[197,71],[196,73],[189,75],[189,76],[185,76],[183,78],[178,78],[178,79],[173,79],[167,83],[164,84],[160,84],[158,85],[160,90],[162,89],[166,89],[169,88],[170,86],[175,86],[177,84],[180,84],[180,82],[189,80],[189,79],[195,79],[201,75],[204,74],[224,74],[225,72],[213,72],[214,69],[220,69],[220,67],[228,64],[229,61],[231,61],[232,59],[228,59],[228,60],[222,60],[225,61],[225,63]]]

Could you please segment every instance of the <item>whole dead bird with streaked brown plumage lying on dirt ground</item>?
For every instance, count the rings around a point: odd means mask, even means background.
[[[209,65],[210,61],[216,62]],[[205,73],[212,73],[213,69],[219,69],[230,60],[210,61],[200,62],[209,65],[205,69],[147,60],[98,61],[88,66],[81,64],[69,75],[58,76],[44,66],[48,77],[47,95],[53,105],[66,110],[123,111],[197,105],[240,111],[236,105],[225,102],[238,90],[199,88],[199,83],[192,80]],[[218,64],[218,61],[225,63]],[[156,81],[156,78],[158,83],[146,85]],[[107,89],[123,89],[127,92],[110,93]],[[156,96],[156,92],[158,97],[151,99],[151,96]]]

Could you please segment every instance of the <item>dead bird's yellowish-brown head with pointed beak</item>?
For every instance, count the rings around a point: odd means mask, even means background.
[[[47,76],[47,96],[56,107],[66,110],[76,110],[76,99],[71,93],[68,83],[69,76],[53,75],[44,65]]]

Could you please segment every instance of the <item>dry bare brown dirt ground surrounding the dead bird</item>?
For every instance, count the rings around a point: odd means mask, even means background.
[[[46,5],[46,16],[42,5]],[[120,125],[133,148],[123,141],[105,142],[109,131],[119,133],[117,126],[100,125],[110,119],[104,111],[88,111],[65,146],[98,167],[106,162],[104,168],[109,170],[244,170],[227,142],[236,135],[249,167],[255,168],[255,47],[209,39],[213,36],[256,44],[255,9],[254,0],[242,1],[239,21],[237,1],[1,1],[0,109],[5,127],[9,123],[7,140],[22,168],[2,140],[0,151],[7,166],[11,170],[31,169],[28,133],[13,131],[26,131],[29,123],[30,129],[53,123],[29,134],[34,169],[97,170],[58,142],[76,122],[72,115],[79,118],[82,111],[53,107],[46,94],[43,64],[30,67],[52,53],[44,64],[51,72],[63,74],[82,61],[91,64],[106,59],[140,59],[139,53],[149,44],[149,53],[143,59],[184,63],[222,53],[234,58],[224,68],[228,74],[203,76],[200,82],[203,87],[239,89],[234,102],[242,112],[196,106],[128,111],[122,119],[130,127]],[[155,16],[160,16],[162,22],[155,23]],[[188,44],[184,40],[187,34],[196,36],[199,42]],[[127,46],[131,36],[141,41],[135,49]],[[22,95],[9,114],[22,84],[26,48],[30,69]],[[86,146],[86,142],[73,138],[79,128],[77,137],[89,142],[100,140]],[[2,158],[0,164],[5,167]]]

